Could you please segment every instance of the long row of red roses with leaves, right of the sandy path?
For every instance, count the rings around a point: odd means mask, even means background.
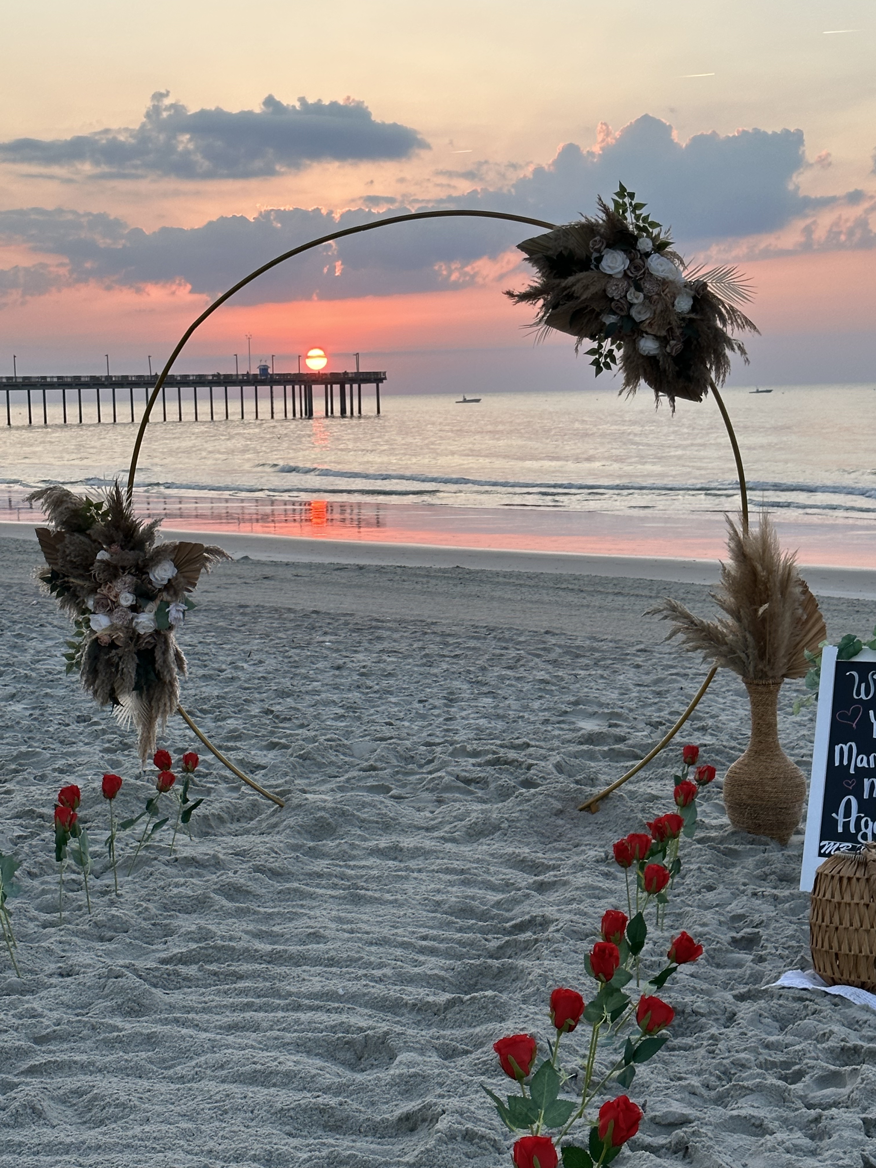
[[[703,952],[702,945],[682,931],[669,943],[668,964],[648,981],[641,980],[640,958],[648,937],[646,913],[653,908],[655,925],[662,922],[673,882],[681,871],[680,839],[694,835],[696,797],[715,778],[714,766],[697,765],[698,753],[697,746],[683,748],[681,773],[673,777],[676,809],[648,823],[647,833],[634,832],[614,844],[614,860],[627,880],[627,912],[609,909],[604,913],[602,939],[585,959],[596,993],[589,1002],[578,990],[564,986],[551,993],[549,1015],[555,1035],[541,1064],[536,1065],[538,1044],[533,1035],[508,1035],[493,1045],[499,1065],[515,1080],[520,1093],[502,1100],[487,1087],[485,1091],[510,1132],[528,1133],[520,1135],[512,1149],[515,1168],[556,1168],[561,1156],[563,1168],[599,1168],[611,1163],[639,1129],[642,1111],[627,1094],[606,1099],[595,1115],[592,1108],[611,1085],[628,1090],[637,1068],[662,1049],[675,1010],[658,996],[658,990],[682,965],[696,961]],[[626,989],[633,980],[638,999]],[[582,1022],[590,1027],[586,1050],[572,1068],[564,1069],[559,1063],[561,1042]],[[605,1040],[614,1050],[603,1063],[599,1044]],[[563,1089],[573,1091],[575,1097],[562,1098]],[[563,1142],[575,1134],[578,1124],[586,1129],[585,1146]]]

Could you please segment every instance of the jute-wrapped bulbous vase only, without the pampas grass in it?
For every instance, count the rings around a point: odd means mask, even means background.
[[[751,703],[749,749],[724,778],[724,806],[734,827],[786,844],[802,815],[806,779],[779,745],[781,679],[743,679]]]

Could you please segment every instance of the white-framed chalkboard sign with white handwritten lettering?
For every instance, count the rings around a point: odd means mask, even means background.
[[[861,851],[876,839],[876,653],[821,655],[800,888],[811,892],[828,856]]]

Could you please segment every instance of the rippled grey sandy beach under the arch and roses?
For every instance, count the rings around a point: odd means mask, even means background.
[[[64,676],[67,624],[30,579],[35,543],[11,526],[0,849],[22,861],[23,978],[0,953],[1,1168],[509,1163],[480,1087],[503,1087],[492,1043],[531,1030],[544,1049],[554,986],[591,992],[584,954],[624,904],[611,844],[668,809],[670,760],[597,815],[576,808],[702,681],[644,613],[667,593],[708,611],[714,565],[234,547],[181,638],[183,703],[286,807],[202,750],[194,839],[147,851],[118,899],[99,862],[90,918],[71,875],[61,929],[58,787],[83,788],[99,841],[100,774],[125,778],[123,814],[151,788],[133,736]],[[843,579],[809,575],[832,639],[872,623],[872,573]],[[799,691],[783,693],[780,734],[808,774]],[[746,731],[743,687],[718,675],[683,732],[718,779],[666,934],[688,930],[705,955],[666,995],[672,1038],[637,1076],[646,1119],[618,1162],[867,1168],[876,1016],[770,988],[811,964],[802,826],[786,849],[730,828],[721,777]],[[164,745],[197,744],[174,719]]]

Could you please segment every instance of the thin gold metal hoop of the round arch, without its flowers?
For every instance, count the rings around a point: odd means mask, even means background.
[[[264,276],[264,273],[269,272],[272,267],[277,267],[279,264],[285,263],[287,259],[292,259],[293,256],[300,256],[305,251],[312,251],[314,248],[321,248],[322,244],[333,243],[335,239],[342,239],[345,236],[348,236],[348,235],[359,235],[359,234],[361,234],[363,231],[375,231],[375,230],[377,230],[377,228],[391,227],[395,223],[410,223],[410,222],[412,222],[415,220],[427,220],[427,218],[491,218],[491,220],[506,220],[506,221],[508,221],[510,223],[527,223],[530,227],[543,227],[548,231],[552,231],[557,227],[556,223],[548,223],[545,220],[531,218],[528,215],[512,215],[510,213],[507,213],[507,211],[478,211],[478,210],[463,210],[463,209],[460,209],[460,210],[445,210],[445,211],[413,211],[413,213],[411,213],[409,215],[392,215],[392,216],[390,216],[390,218],[376,220],[373,223],[362,223],[359,227],[348,227],[348,228],[345,228],[341,231],[333,231],[331,235],[320,236],[318,239],[310,239],[307,243],[303,243],[298,248],[292,248],[290,251],[284,251],[283,255],[276,256],[273,259],[270,259],[266,264],[262,264],[260,267],[257,267],[255,271],[250,272],[249,276],[245,276],[242,280],[238,280],[237,284],[234,284],[227,292],[223,292],[221,297],[218,297],[216,300],[213,301],[213,304],[208,305],[208,307],[204,308],[204,311],[201,313],[200,317],[197,317],[195,320],[193,320],[193,322],[189,325],[189,327],[182,334],[182,336],[180,338],[180,340],[176,342],[173,352],[171,353],[169,357],[165,362],[165,367],[161,370],[161,373],[159,374],[158,380],[155,381],[155,387],[152,390],[152,394],[150,395],[148,402],[146,403],[146,409],[142,412],[142,418],[140,419],[140,425],[139,425],[139,429],[137,431],[137,438],[134,439],[134,449],[133,449],[133,453],[131,456],[131,466],[130,466],[128,474],[127,474],[127,498],[128,499],[133,498],[133,493],[134,493],[134,477],[137,474],[137,463],[138,463],[138,459],[140,457],[140,449],[142,446],[142,439],[144,439],[144,436],[146,433],[146,426],[148,425],[148,422],[150,422],[150,415],[152,413],[152,406],[158,401],[158,395],[160,394],[161,388],[165,384],[165,381],[167,378],[167,375],[169,374],[171,369],[173,368],[174,362],[176,361],[176,357],[183,350],[183,348],[188,343],[188,341],[192,338],[192,335],[201,327],[201,325],[207,320],[208,317],[211,317],[213,313],[216,312],[217,308],[220,308],[227,300],[230,300],[230,298],[232,296],[235,296],[235,293],[239,292],[241,288],[246,287],[248,284],[251,284],[255,279],[258,279],[259,276]],[[742,522],[743,522],[743,528],[748,529],[748,526],[749,526],[749,502],[748,502],[748,491],[746,491],[746,487],[745,487],[745,470],[744,470],[743,464],[742,464],[742,456],[739,453],[739,445],[738,445],[738,443],[736,440],[736,434],[734,432],[734,427],[732,427],[732,424],[730,422],[730,415],[726,412],[726,406],[724,405],[724,402],[723,402],[721,395],[718,394],[717,387],[716,387],[716,384],[715,384],[714,381],[710,382],[710,389],[711,389],[711,392],[715,396],[715,402],[716,402],[716,404],[718,406],[718,410],[721,411],[721,417],[723,418],[724,426],[726,427],[728,437],[730,438],[730,446],[732,447],[734,458],[736,460],[736,471],[737,471],[738,480],[739,480],[739,500],[741,500],[741,505],[742,505]],[[715,677],[716,673],[717,673],[716,668],[712,668],[709,672],[709,674],[705,677],[705,681],[703,681],[702,686],[700,687],[700,689],[697,690],[696,695],[694,696],[694,700],[690,702],[690,704],[684,710],[684,712],[679,718],[679,721],[675,723],[675,725],[672,728],[672,730],[656,744],[656,746],[654,746],[654,749],[651,750],[648,752],[648,755],[646,755],[646,757],[640,763],[637,763],[637,765],[632,770],[627,771],[626,774],[621,776],[620,779],[618,779],[616,783],[612,783],[611,786],[606,787],[604,791],[600,791],[598,795],[595,795],[592,799],[588,800],[588,802],[582,804],[580,807],[578,808],[578,811],[589,809],[589,811],[591,811],[593,813],[597,812],[599,809],[599,802],[600,802],[602,799],[604,799],[612,791],[616,791],[619,786],[621,786],[624,783],[626,783],[627,779],[631,779],[634,774],[637,774],[647,763],[651,762],[652,758],[655,758],[656,755],[659,755],[660,751],[663,750],[663,748],[667,746],[672,742],[672,739],[675,737],[675,735],[679,732],[679,730],[681,730],[681,728],[684,725],[684,723],[687,722],[687,719],[694,712],[694,710],[696,709],[697,704],[700,703],[700,700],[702,698],[703,694],[705,693],[705,690],[711,684],[711,681]],[[243,773],[243,771],[239,771],[236,766],[234,766],[213,745],[213,743],[207,738],[207,736],[204,734],[202,734],[202,731],[195,725],[195,723],[192,719],[190,715],[187,714],[186,710],[181,705],[178,707],[178,711],[179,711],[180,716],[183,718],[183,721],[197,735],[197,737],[207,746],[207,749],[213,755],[216,756],[216,758],[222,763],[223,766],[227,766],[239,779],[243,779],[243,781],[245,784],[248,784],[250,787],[252,787],[253,791],[257,791],[260,795],[264,795],[266,799],[271,799],[274,804],[277,804],[278,807],[284,807],[285,806],[284,800],[280,799],[279,795],[274,795],[274,794],[271,794],[269,791],[265,791],[257,783],[253,783],[252,779],[248,778]]]

